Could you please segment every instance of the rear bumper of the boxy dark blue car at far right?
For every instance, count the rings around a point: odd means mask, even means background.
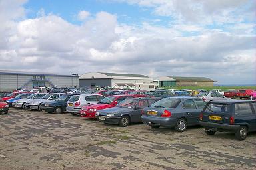
[[[218,124],[213,122],[199,121],[199,124],[205,128],[213,128],[219,131],[237,131],[240,125]]]

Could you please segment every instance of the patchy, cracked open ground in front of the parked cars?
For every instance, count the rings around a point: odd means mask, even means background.
[[[0,115],[0,169],[256,169],[256,133],[207,136],[11,108]]]

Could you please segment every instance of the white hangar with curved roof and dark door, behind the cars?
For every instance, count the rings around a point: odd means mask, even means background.
[[[111,88],[155,89],[153,78],[141,74],[89,72],[79,76],[79,87],[109,86]]]

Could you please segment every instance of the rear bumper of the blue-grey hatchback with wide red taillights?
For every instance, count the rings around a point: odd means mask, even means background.
[[[177,118],[161,118],[156,116],[141,116],[143,124],[153,126],[163,126],[173,128],[177,123]]]

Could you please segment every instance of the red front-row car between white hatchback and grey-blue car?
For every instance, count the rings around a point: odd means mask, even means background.
[[[80,111],[81,117],[86,117],[86,118],[96,118],[95,114],[97,110],[102,110],[106,108],[113,108],[119,102],[125,100],[126,98],[134,98],[135,96],[132,95],[113,95],[109,96],[107,98],[104,98],[97,104],[91,104],[88,106],[83,106],[83,108]]]

